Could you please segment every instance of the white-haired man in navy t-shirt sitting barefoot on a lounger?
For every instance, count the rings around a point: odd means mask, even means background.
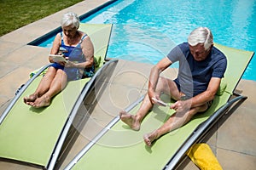
[[[178,75],[175,80],[160,77],[160,73],[178,61]],[[207,27],[192,31],[188,42],[183,42],[156,64],[148,81],[148,94],[136,115],[120,111],[120,119],[131,129],[139,130],[143,118],[154,104],[162,105],[160,94],[169,94],[176,102],[170,109],[176,111],[152,133],[144,135],[145,144],[151,146],[154,140],[165,133],[183,126],[198,112],[207,111],[224,77],[227,59],[213,47],[212,32]]]

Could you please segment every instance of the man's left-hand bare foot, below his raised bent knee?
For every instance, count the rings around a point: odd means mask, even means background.
[[[140,130],[141,123],[136,120],[136,116],[127,113],[126,111],[119,112],[120,119],[125,122],[131,129]]]

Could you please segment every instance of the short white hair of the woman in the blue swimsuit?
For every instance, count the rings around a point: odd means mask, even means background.
[[[77,29],[79,29],[80,20],[78,17],[78,14],[67,12],[66,14],[63,14],[62,20],[61,20],[61,26],[75,26]]]

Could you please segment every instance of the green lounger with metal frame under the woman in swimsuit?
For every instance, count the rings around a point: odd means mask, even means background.
[[[94,44],[97,69],[92,78],[68,82],[51,105],[35,109],[23,103],[23,97],[35,90],[45,65],[36,73],[12,100],[0,117],[0,157],[22,161],[39,167],[53,169],[61,146],[67,137],[79,102],[99,75],[108,49],[112,25],[80,24],[79,29],[86,32]]]

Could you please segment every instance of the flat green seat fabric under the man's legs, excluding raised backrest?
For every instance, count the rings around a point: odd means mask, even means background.
[[[140,131],[133,131],[124,124],[117,122],[105,133],[100,140],[94,144],[86,154],[72,167],[72,170],[80,169],[162,169],[166,162],[177,152],[195,128],[207,120],[209,116],[227,102],[230,94],[224,93],[216,96],[212,107],[204,114],[196,115],[189,123],[171,133],[166,133],[156,140],[152,147],[145,145],[143,134],[152,132],[166,122],[173,114],[168,107],[155,106],[151,114],[143,120]],[[165,102],[169,96],[162,95]],[[135,114],[139,105],[130,111]],[[101,163],[98,161],[101,160]]]

